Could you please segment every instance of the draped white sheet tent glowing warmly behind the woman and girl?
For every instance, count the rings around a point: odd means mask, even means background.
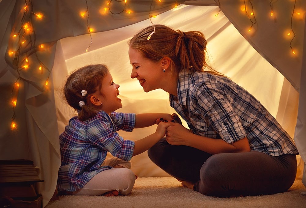
[[[88,64],[105,63],[115,82],[120,84],[121,112],[174,113],[167,93],[162,90],[145,93],[137,80],[130,78],[127,41],[152,23],[204,33],[211,65],[259,99],[292,136],[300,152],[297,177],[303,177],[306,185],[303,170],[303,160],[306,161],[306,84],[303,81],[306,80],[306,1],[130,0],[125,10],[130,9],[131,14],[121,12],[123,1],[110,2],[111,10],[105,11],[107,1],[0,0],[0,159],[34,161],[40,168],[40,178],[45,180],[39,186],[43,206],[56,188],[61,163],[58,135],[75,113],[61,96],[62,85],[71,71]],[[243,11],[244,2],[250,19]],[[176,3],[178,6],[174,8]],[[28,6],[27,13],[25,6]],[[80,12],[86,10],[85,17],[81,17]],[[36,18],[39,13],[43,14],[41,20]],[[151,18],[152,23],[149,13],[157,16]],[[254,16],[256,23],[248,32]],[[26,31],[27,22],[31,23],[28,24],[31,33],[19,35]],[[91,34],[88,27],[94,29]],[[291,36],[287,35],[289,32]],[[17,37],[13,38],[15,34]],[[28,68],[24,68],[26,64]],[[12,100],[16,101],[15,107]],[[13,130],[12,121],[17,125]],[[138,140],[154,131],[155,126],[119,134],[125,139]],[[146,153],[133,157],[132,164],[132,170],[140,177],[168,176]]]

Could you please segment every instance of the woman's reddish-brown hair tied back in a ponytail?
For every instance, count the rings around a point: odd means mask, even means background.
[[[181,70],[189,72],[207,71],[223,76],[212,69],[206,62],[207,41],[200,31],[182,32],[166,25],[156,24],[155,33],[148,40],[154,28],[148,26],[129,40],[129,47],[139,51],[144,58],[157,62],[169,57],[178,74]]]

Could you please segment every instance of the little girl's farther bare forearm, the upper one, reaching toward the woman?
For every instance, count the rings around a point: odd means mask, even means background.
[[[171,119],[169,113],[141,113],[136,114],[135,128],[143,128],[155,124],[158,118]]]

